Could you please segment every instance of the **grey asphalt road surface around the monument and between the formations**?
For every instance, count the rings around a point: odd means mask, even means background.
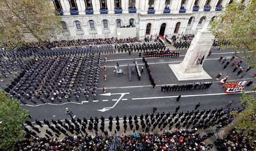
[[[186,54],[186,50],[180,50],[180,57],[168,57],[168,58],[146,58],[150,65],[153,77],[156,81],[156,87],[153,89],[148,75],[146,73],[145,66],[142,62],[142,57],[139,57],[139,53],[116,53],[116,54],[102,54],[108,57],[108,61],[105,63],[107,68],[103,70],[103,64],[101,64],[100,79],[97,89],[96,100],[90,96],[89,101],[86,101],[83,96],[83,92],[80,95],[80,100],[75,101],[74,96],[71,96],[71,102],[66,99],[62,99],[62,102],[49,102],[48,104],[41,104],[39,101],[37,104],[28,102],[27,105],[22,105],[24,109],[30,111],[30,115],[33,117],[31,121],[38,119],[40,121],[47,120],[63,120],[65,118],[70,119],[65,114],[66,107],[69,107],[73,111],[73,116],[83,118],[104,116],[108,118],[110,115],[120,118],[123,115],[145,115],[146,113],[151,114],[153,106],[157,106],[157,112],[171,112],[175,111],[176,106],[180,105],[180,111],[186,112],[191,111],[195,108],[195,105],[200,102],[201,106],[199,110],[214,109],[215,107],[225,107],[229,100],[234,100],[231,107],[241,107],[240,97],[241,94],[225,94],[225,90],[219,85],[219,80],[216,76],[219,72],[222,73],[222,77],[228,76],[227,81],[241,81],[240,76],[237,76],[237,72],[232,73],[234,67],[229,66],[224,70],[224,64],[218,61],[221,55],[230,58],[233,54],[233,49],[225,49],[218,51],[218,49],[212,49],[213,54],[208,56],[204,61],[204,70],[212,77],[208,80],[189,80],[189,81],[178,81],[168,64],[180,63]],[[240,55],[242,53],[239,53]],[[129,81],[127,75],[127,63],[130,63],[131,69],[135,67],[133,61],[135,60],[139,64],[139,68],[144,67],[144,73],[142,73],[141,80],[138,80],[136,73],[132,75],[132,81]],[[114,70],[116,63],[118,62],[119,67],[124,71],[124,75],[116,76]],[[244,66],[246,62],[242,63]],[[89,64],[90,65],[90,64]],[[245,64],[246,65],[246,64]],[[246,66],[247,67],[247,66]],[[18,71],[18,69],[17,69]],[[16,71],[16,72],[17,72]],[[255,69],[251,69],[243,79],[247,81],[253,78],[253,72]],[[107,75],[106,81],[103,80],[103,74]],[[5,87],[5,84],[10,83],[14,74],[8,74],[8,78],[0,82],[0,89]],[[87,79],[87,78],[86,78]],[[205,90],[190,90],[190,91],[171,91],[161,92],[160,87],[165,84],[182,84],[182,83],[194,83],[194,82],[209,82],[212,81],[214,84],[209,89]],[[102,87],[105,85],[106,94],[103,94]],[[245,89],[248,93],[251,87]],[[100,95],[103,94],[103,95]],[[181,95],[179,102],[176,101],[176,97]]]

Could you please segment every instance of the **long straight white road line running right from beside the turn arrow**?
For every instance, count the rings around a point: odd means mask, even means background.
[[[245,93],[253,93],[256,91],[246,91]],[[241,94],[242,92],[233,93],[233,94]],[[197,94],[197,95],[183,95],[182,97],[194,97],[194,96],[211,96],[211,95],[231,95],[227,93],[212,93],[212,94]],[[160,96],[160,97],[146,97],[146,98],[132,98],[132,100],[146,100],[146,99],[162,99],[162,98],[176,98],[176,96]]]

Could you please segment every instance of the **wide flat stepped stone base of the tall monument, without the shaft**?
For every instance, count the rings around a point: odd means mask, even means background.
[[[180,69],[180,64],[169,64],[169,67],[179,81],[212,79],[203,69],[199,73],[183,73]]]

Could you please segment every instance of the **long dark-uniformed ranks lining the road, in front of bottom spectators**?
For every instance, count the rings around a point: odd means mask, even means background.
[[[199,105],[200,106],[200,105]],[[196,105],[195,109],[199,107]],[[101,131],[105,135],[108,135],[109,132],[113,132],[113,129],[115,131],[122,130],[125,133],[126,131],[138,131],[142,130],[145,133],[153,132],[156,128],[158,128],[160,131],[162,131],[164,128],[167,128],[168,130],[172,130],[173,127],[180,129],[181,127],[186,128],[197,128],[197,129],[206,129],[211,126],[218,125],[217,127],[223,127],[226,126],[228,123],[232,122],[233,117],[229,115],[231,111],[237,111],[241,112],[242,109],[226,109],[225,111],[221,107],[220,109],[214,109],[214,110],[192,110],[187,112],[178,112],[180,110],[180,106],[177,106],[175,109],[175,112],[171,114],[168,113],[152,113],[151,115],[141,114],[140,116],[135,115],[132,117],[131,115],[129,117],[126,117],[124,115],[123,118],[119,118],[119,116],[116,116],[113,118],[112,116],[109,116],[108,122],[106,122],[106,119],[101,116],[100,118],[77,118],[76,120],[72,118],[71,121],[65,119],[63,121],[60,120],[51,120],[48,121],[44,119],[43,123],[48,126],[46,130],[46,137],[53,137],[59,136],[60,133],[68,135],[68,132],[71,134],[76,133],[77,134],[88,134],[87,132],[95,132]],[[115,125],[113,124],[113,121],[115,120]],[[40,133],[38,128],[33,125],[29,120],[25,122],[27,125],[31,126],[31,128],[35,131],[29,131],[28,128],[25,128],[25,131],[37,137],[36,133]],[[43,123],[35,120],[36,125],[43,127]],[[105,123],[108,123],[108,125],[105,125]],[[122,124],[121,124],[122,123]]]

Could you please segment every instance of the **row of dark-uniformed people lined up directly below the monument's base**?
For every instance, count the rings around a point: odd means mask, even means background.
[[[197,82],[197,83],[186,83],[186,84],[174,84],[174,85],[165,85],[161,87],[161,91],[184,91],[184,90],[199,90],[199,89],[208,89],[210,88],[212,82]]]

